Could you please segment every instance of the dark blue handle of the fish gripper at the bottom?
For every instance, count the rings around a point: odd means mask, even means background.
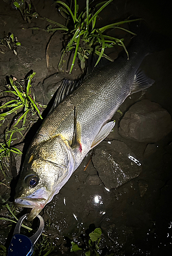
[[[7,256],[30,256],[33,253],[33,244],[24,234],[14,234],[8,249]]]

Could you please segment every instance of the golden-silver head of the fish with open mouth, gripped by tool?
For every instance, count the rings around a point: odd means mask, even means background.
[[[15,205],[32,208],[33,220],[68,181],[74,170],[70,147],[61,136],[31,146],[16,186]]]

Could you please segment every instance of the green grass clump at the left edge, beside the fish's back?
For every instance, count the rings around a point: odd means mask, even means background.
[[[32,72],[25,80],[22,82],[17,82],[16,78],[9,77],[9,84],[7,84],[7,89],[1,91],[0,95],[4,98],[9,98],[7,102],[2,102],[0,109],[0,126],[5,123],[7,117],[12,115],[12,124],[7,124],[4,134],[0,136],[0,169],[4,173],[4,159],[9,162],[10,154],[14,153],[17,155],[22,154],[18,148],[12,146],[12,142],[18,139],[18,136],[23,137],[23,131],[26,129],[26,120],[28,114],[37,114],[41,119],[40,108],[45,108],[46,105],[42,105],[35,101],[35,96],[31,96],[31,81],[36,73]],[[14,135],[17,135],[17,137]]]

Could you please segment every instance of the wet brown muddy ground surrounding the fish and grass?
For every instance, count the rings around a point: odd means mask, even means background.
[[[39,15],[65,24],[65,19],[57,13],[52,1],[32,1],[32,3]],[[98,26],[134,14],[144,18],[154,31],[171,38],[171,13],[167,3],[168,1],[114,0],[100,14]],[[83,2],[80,5],[82,6]],[[17,56],[12,51],[0,53],[2,89],[6,84],[6,76],[12,75],[17,79],[23,79],[30,70],[33,70],[36,72],[33,81],[36,100],[47,104],[57,89],[59,84],[57,82],[62,77],[75,79],[81,73],[76,65],[71,76],[68,71],[57,74],[62,34],[56,32],[52,38],[48,70],[46,46],[51,34],[29,29],[45,28],[48,25],[46,20],[33,18],[29,24],[23,20],[20,12],[13,8],[11,2],[5,0],[1,1],[0,15],[0,38],[11,32],[21,43],[16,50]],[[111,56],[115,58],[118,51],[119,49],[115,49],[111,52]],[[148,77],[155,80],[153,86],[144,92],[131,95],[123,102],[120,107],[122,114],[116,113],[113,118],[116,120],[114,132],[95,148],[93,155],[91,152],[85,157],[59,194],[54,196],[54,199],[42,210],[41,215],[44,216],[45,221],[50,220],[51,225],[46,229],[46,233],[53,239],[58,254],[71,254],[64,238],[75,237],[77,241],[80,234],[94,224],[103,232],[103,239],[100,242],[102,255],[106,252],[109,254],[114,252],[115,255],[171,255],[172,134],[162,134],[162,138],[158,141],[154,139],[142,142],[119,134],[120,120],[130,106],[140,100],[148,99],[156,102],[170,115],[172,114],[171,57],[171,48],[145,57],[141,69]],[[3,133],[3,128],[1,129]],[[149,127],[149,131],[152,129]],[[34,134],[33,130],[28,133],[25,147],[29,145]],[[150,146],[147,147],[147,144]],[[20,148],[23,148],[23,144]],[[129,153],[135,161],[128,158]],[[84,171],[91,155],[92,160]],[[11,159],[11,166],[9,165],[11,178],[18,173],[20,161],[21,159],[18,158],[15,167],[15,161]],[[10,188],[3,184],[0,186],[1,195],[6,200],[9,199]],[[7,215],[4,208],[1,210],[1,215]],[[11,227],[8,224],[2,222],[0,227],[1,243],[7,245],[11,238],[9,235]],[[94,225],[91,226],[91,231]],[[55,252],[53,255],[56,254]]]

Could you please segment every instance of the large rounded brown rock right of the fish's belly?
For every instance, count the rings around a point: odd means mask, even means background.
[[[153,143],[172,129],[169,113],[150,100],[135,103],[120,121],[119,134],[140,142]]]

